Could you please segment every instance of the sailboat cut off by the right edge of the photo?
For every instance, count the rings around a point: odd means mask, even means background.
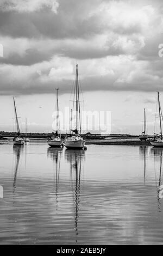
[[[160,134],[155,134],[153,141],[151,141],[151,145],[153,145],[154,147],[162,148],[163,147],[162,125],[161,125],[162,111],[161,111],[161,105],[160,105],[159,92],[158,92],[158,105],[159,105]]]

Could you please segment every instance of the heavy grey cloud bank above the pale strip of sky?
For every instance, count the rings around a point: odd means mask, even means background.
[[[161,1],[2,3],[1,94],[70,92],[77,62],[83,90],[162,90]]]

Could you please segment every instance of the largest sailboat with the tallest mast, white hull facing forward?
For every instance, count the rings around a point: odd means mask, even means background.
[[[65,147],[69,149],[83,149],[85,145],[85,141],[83,140],[83,137],[81,134],[81,120],[80,120],[80,99],[79,99],[79,81],[78,81],[78,64],[76,68],[76,84],[75,84],[75,91],[74,96],[76,96],[76,127],[75,129],[70,131],[70,135],[65,136]],[[72,121],[72,117],[71,117]],[[72,125],[71,125],[72,126]],[[80,127],[80,133],[79,128]],[[73,132],[73,134],[72,134]]]

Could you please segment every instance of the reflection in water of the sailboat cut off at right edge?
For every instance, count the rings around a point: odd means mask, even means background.
[[[160,199],[163,198],[163,186],[161,185],[161,178],[162,178],[162,148],[151,148],[151,153],[154,155],[154,160],[156,157],[160,158],[160,167],[159,167],[159,181],[156,182],[157,193],[158,193],[158,202],[160,208]],[[156,174],[155,174],[156,175]],[[156,179],[158,180],[158,179]]]

